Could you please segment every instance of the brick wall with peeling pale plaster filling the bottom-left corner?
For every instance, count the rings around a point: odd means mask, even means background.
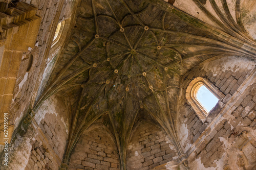
[[[9,166],[1,165],[0,169],[58,169],[68,141],[69,115],[69,105],[61,96],[47,99],[28,130],[15,134],[8,149]]]

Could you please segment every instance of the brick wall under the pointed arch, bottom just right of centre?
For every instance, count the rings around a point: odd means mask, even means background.
[[[127,147],[126,169],[147,170],[178,158],[170,138],[160,128],[141,123]]]

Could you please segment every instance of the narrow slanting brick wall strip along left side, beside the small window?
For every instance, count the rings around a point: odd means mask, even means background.
[[[50,63],[52,58],[54,58],[58,53],[58,50],[55,49],[55,53],[51,54],[47,61],[45,61],[44,55],[47,50],[47,46],[52,43],[49,41],[49,36],[51,32],[55,31],[52,29],[52,24],[60,1],[24,0],[22,2],[38,8],[36,15],[41,17],[41,23],[38,30],[36,43],[32,48],[28,48],[28,51],[23,54],[22,61],[20,62],[15,89],[13,91],[13,99],[15,100],[12,101],[10,109],[10,112],[13,115],[11,123],[15,125],[14,129],[16,129],[24,115],[27,114],[31,99],[33,99],[33,95],[35,95],[36,90],[38,90],[36,88],[37,82],[40,81],[39,75],[44,73],[44,69],[46,67],[46,65],[42,65],[42,63]],[[59,22],[70,17],[73,3],[73,1],[65,1],[63,10],[60,12]],[[29,71],[26,71],[28,68],[30,55],[33,56],[32,66]],[[51,64],[51,66],[53,66],[53,64]]]

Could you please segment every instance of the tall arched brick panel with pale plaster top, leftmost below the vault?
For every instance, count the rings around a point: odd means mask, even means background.
[[[42,104],[35,120],[43,139],[36,135],[27,169],[58,169],[69,137],[69,115],[67,101],[61,96],[54,95]]]

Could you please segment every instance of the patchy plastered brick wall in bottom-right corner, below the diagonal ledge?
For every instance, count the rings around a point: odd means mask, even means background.
[[[249,94],[238,102],[239,106],[231,115],[223,117],[214,133],[199,145],[194,158],[191,158],[192,167],[202,166],[202,163],[204,167],[216,168],[225,165],[231,169],[256,167],[255,85],[248,89]]]

